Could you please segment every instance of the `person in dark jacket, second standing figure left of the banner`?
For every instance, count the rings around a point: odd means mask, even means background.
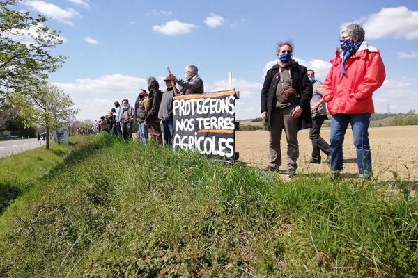
[[[150,138],[157,140],[159,145],[162,145],[162,133],[160,120],[158,119],[158,111],[160,110],[162,92],[158,90],[157,79],[155,77],[148,77],[148,106],[146,108],[146,116],[144,121],[146,126],[150,127]]]

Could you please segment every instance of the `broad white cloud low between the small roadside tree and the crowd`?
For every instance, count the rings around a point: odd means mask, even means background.
[[[113,108],[114,101],[121,102],[129,99],[130,104],[135,103],[137,91],[146,88],[146,79],[122,75],[109,74],[97,79],[76,79],[74,83],[54,83],[65,93],[70,94],[75,102],[79,120],[98,119]]]

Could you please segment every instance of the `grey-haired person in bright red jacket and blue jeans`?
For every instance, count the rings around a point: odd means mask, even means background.
[[[378,49],[367,45],[361,24],[341,28],[340,48],[323,83],[323,100],[331,119],[331,172],[343,170],[343,141],[348,124],[353,131],[359,177],[371,176],[369,122],[372,95],[385,81],[385,65]]]

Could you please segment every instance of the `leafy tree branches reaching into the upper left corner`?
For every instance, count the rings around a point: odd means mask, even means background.
[[[11,9],[15,5],[16,0],[0,0],[0,95],[25,92],[24,87],[46,79],[65,59],[49,54],[63,42],[59,31],[44,26],[47,19],[42,15]]]

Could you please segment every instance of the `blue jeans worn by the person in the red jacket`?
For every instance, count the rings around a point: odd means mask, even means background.
[[[357,166],[360,177],[371,174],[371,152],[369,144],[370,113],[336,114],[331,117],[331,172],[343,170],[343,142],[348,124],[353,131],[354,146],[357,153]]]

